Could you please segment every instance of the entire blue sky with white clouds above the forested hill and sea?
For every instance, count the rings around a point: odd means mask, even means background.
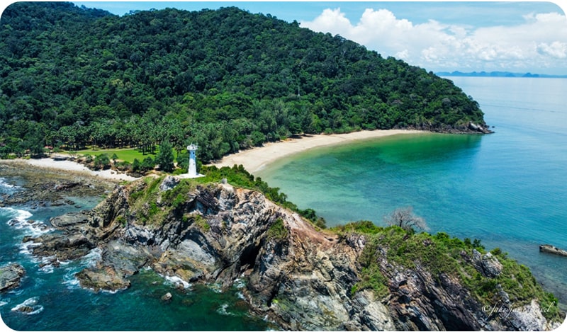
[[[123,15],[237,6],[342,35],[431,71],[567,74],[567,19],[551,2],[74,2]]]

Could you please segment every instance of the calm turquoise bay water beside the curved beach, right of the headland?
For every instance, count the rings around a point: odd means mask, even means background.
[[[495,134],[415,134],[306,151],[257,175],[332,226],[411,205],[430,231],[481,239],[567,303],[567,79],[451,78]],[[562,306],[563,307],[563,306]]]

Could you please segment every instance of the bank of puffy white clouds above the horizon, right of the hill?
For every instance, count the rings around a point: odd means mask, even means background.
[[[383,56],[398,57],[434,71],[566,71],[566,17],[560,13],[532,13],[523,19],[517,25],[483,28],[435,20],[415,24],[396,18],[387,9],[366,8],[359,22],[353,24],[340,8],[329,8],[301,25],[342,35]]]

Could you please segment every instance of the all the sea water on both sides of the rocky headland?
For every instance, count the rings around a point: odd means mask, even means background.
[[[332,226],[359,219],[382,224],[396,207],[412,206],[431,232],[480,239],[529,266],[544,288],[567,303],[567,258],[539,244],[567,248],[567,79],[451,78],[473,96],[495,134],[408,134],[313,149],[260,172],[300,207]],[[20,183],[21,184],[21,183]],[[0,195],[21,190],[1,178]],[[97,200],[80,201],[83,208]],[[142,270],[132,287],[111,294],[82,290],[74,273],[100,252],[38,268],[21,240],[41,234],[50,217],[75,207],[0,208],[0,265],[21,263],[20,288],[0,294],[4,324],[19,331],[260,331],[242,283],[186,285]],[[33,220],[33,222],[30,222]],[[171,302],[160,300],[172,292]],[[34,311],[22,314],[18,306]]]

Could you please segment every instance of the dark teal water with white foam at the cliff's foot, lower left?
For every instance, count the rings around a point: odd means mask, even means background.
[[[9,179],[0,178],[0,195],[18,189]],[[91,208],[96,200],[74,202]],[[19,262],[26,268],[20,288],[0,294],[0,316],[4,324],[18,331],[265,331],[269,324],[252,317],[242,299],[239,283],[230,290],[189,285],[179,289],[152,270],[142,270],[130,278],[132,287],[111,294],[94,293],[79,287],[74,273],[94,264],[100,251],[60,268],[38,268],[38,260],[21,244],[23,236],[41,234],[40,224],[74,207],[30,209],[0,207],[0,265]],[[34,224],[29,224],[34,220]],[[171,292],[170,302],[161,297]],[[22,314],[13,309],[30,305],[34,311]],[[1,328],[1,324],[0,324]]]

